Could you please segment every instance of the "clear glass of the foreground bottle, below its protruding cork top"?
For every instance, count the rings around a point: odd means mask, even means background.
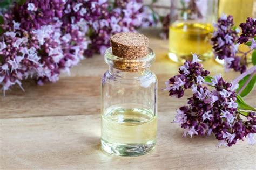
[[[105,52],[109,70],[102,77],[102,150],[123,156],[149,153],[156,145],[157,77],[150,66],[154,52],[124,59]],[[125,67],[123,67],[125,66]]]

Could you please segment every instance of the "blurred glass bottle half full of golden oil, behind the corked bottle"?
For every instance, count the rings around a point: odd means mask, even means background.
[[[212,23],[217,19],[218,0],[171,0],[169,58],[175,62],[213,56]]]

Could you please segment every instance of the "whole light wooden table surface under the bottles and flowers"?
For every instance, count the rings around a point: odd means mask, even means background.
[[[255,169],[255,146],[238,141],[218,148],[214,136],[181,137],[183,130],[171,123],[182,100],[168,96],[164,81],[177,73],[179,65],[167,59],[167,41],[153,30],[144,31],[156,52],[152,70],[159,80],[158,134],[156,149],[142,157],[112,157],[100,147],[100,77],[107,70],[103,56],[83,60],[62,75],[57,83],[37,86],[23,83],[0,97],[0,169]],[[205,68],[223,73],[209,60]],[[230,80],[238,73],[223,73]],[[256,90],[246,97],[255,106]]]

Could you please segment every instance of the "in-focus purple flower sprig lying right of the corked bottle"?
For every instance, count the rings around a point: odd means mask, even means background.
[[[186,80],[191,79],[191,74],[183,72],[184,68],[187,68],[187,63],[188,61],[180,67],[179,72],[183,73],[183,79],[176,79],[172,83],[174,87],[175,84],[184,87]],[[198,70],[199,63],[197,61],[192,63],[193,65],[189,67],[190,70]],[[209,74],[207,70],[204,72]],[[193,79],[195,80],[195,78]],[[210,85],[211,89],[204,85]],[[207,136],[214,133],[216,139],[220,140],[218,146],[232,146],[237,140],[244,140],[244,138],[248,138],[249,143],[254,144],[256,115],[254,112],[250,112],[244,121],[239,114],[236,103],[237,94],[235,93],[238,84],[227,82],[221,75],[217,75],[212,77],[210,82],[190,81],[189,86],[192,88],[193,96],[188,98],[188,105],[177,110],[173,121],[179,123],[184,129],[183,137],[186,135],[191,137],[193,135]],[[171,87],[172,90],[173,85]],[[169,92],[169,95],[176,94]]]

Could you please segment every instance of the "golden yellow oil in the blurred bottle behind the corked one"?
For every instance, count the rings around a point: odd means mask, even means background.
[[[205,60],[212,56],[212,24],[176,22],[169,27],[169,58],[179,62],[191,60],[192,53]]]

